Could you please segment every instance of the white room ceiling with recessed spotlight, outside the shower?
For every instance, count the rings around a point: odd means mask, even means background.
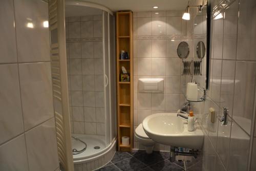
[[[67,0],[66,0],[67,1]],[[131,10],[137,11],[161,11],[161,10],[185,10],[188,0],[82,0],[103,5],[111,11]],[[153,9],[158,6],[158,9]]]

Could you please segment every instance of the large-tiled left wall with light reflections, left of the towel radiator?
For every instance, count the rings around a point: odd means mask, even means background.
[[[1,1],[0,170],[58,169],[45,21],[44,1]]]

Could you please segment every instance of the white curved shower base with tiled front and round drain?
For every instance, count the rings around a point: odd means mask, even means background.
[[[116,139],[109,145],[105,145],[105,136],[84,134],[73,134],[72,136],[87,143],[86,151],[73,155],[75,171],[89,171],[100,168],[111,161],[115,154]],[[95,146],[99,146],[100,148],[94,149]],[[79,151],[83,147],[83,143],[72,138],[72,148],[76,148]]]

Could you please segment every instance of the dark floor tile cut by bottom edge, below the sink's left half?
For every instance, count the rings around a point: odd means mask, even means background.
[[[177,164],[170,162],[169,159],[165,159],[164,161],[158,162],[150,167],[155,171],[181,171],[184,169]]]

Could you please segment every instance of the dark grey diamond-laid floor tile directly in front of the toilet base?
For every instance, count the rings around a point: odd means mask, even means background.
[[[165,159],[159,152],[153,152],[152,154],[142,153],[140,155],[135,155],[134,157],[147,166],[158,163]]]

